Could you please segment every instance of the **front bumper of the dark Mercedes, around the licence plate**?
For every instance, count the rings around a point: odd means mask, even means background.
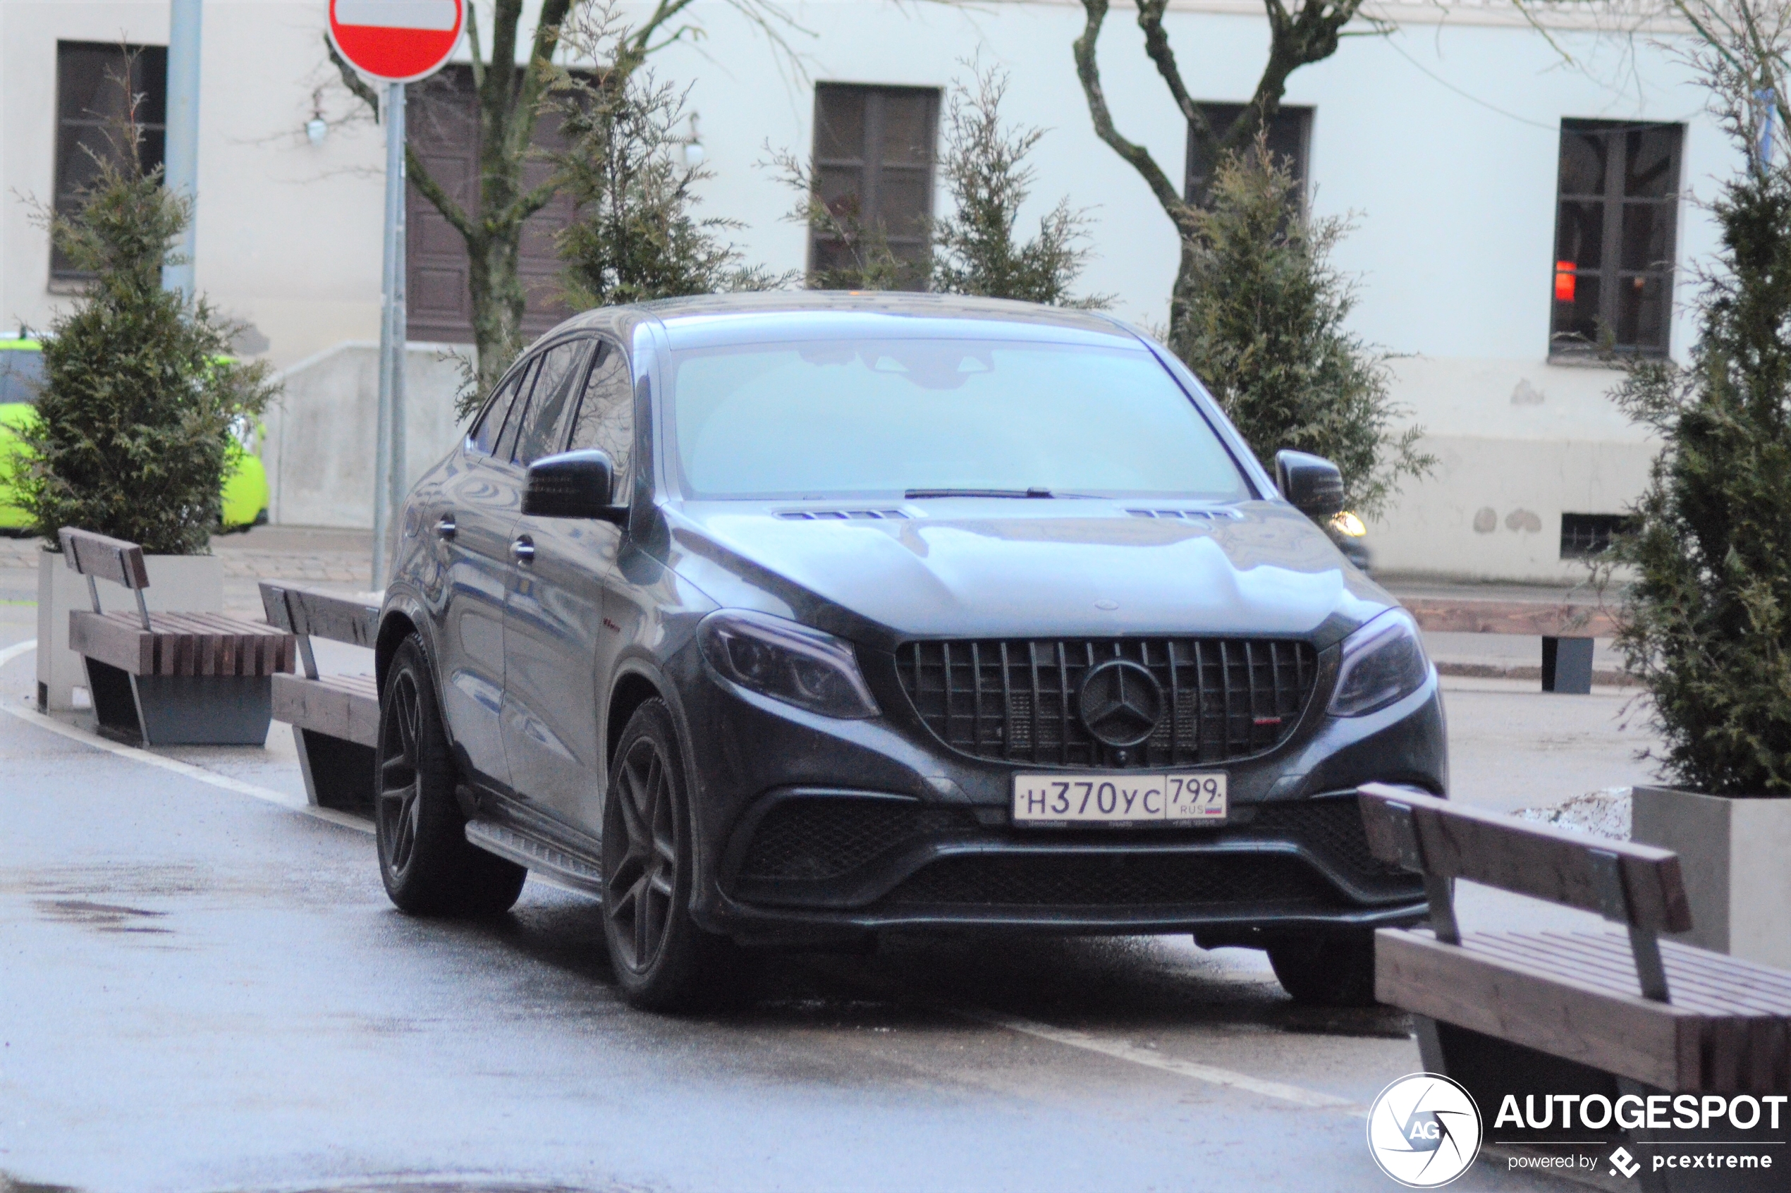
[[[878,691],[885,717],[844,722],[691,672],[695,914],[711,931],[793,944],[953,926],[1257,940],[1426,912],[1422,881],[1368,853],[1354,788],[1447,790],[1435,675],[1361,718],[1325,717],[1320,682],[1282,745],[1221,767],[1223,828],[1037,829],[1008,813],[1014,772],[1037,767],[956,754],[894,704],[899,693]]]

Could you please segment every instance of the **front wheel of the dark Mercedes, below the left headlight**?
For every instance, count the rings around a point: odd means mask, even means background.
[[[647,700],[621,731],[604,799],[604,940],[630,1007],[702,1010],[738,992],[733,940],[690,915],[693,856],[677,727],[664,700]]]

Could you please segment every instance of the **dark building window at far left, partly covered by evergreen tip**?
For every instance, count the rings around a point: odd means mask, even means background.
[[[129,88],[131,93],[143,95],[143,104],[138,111],[138,127],[143,133],[143,142],[138,147],[138,161],[143,172],[154,170],[163,165],[163,154],[167,149],[167,111],[168,111],[168,47],[165,45],[134,45],[134,43],[116,43],[116,41],[64,41],[56,43],[56,174],[52,176],[52,204],[56,213],[61,217],[73,215],[75,199],[79,188],[73,177],[79,170],[79,154],[82,154],[82,145],[106,145],[106,125],[111,124],[122,113],[95,113],[90,107],[81,109],[81,113],[68,113],[70,88],[73,81],[70,79],[70,70],[82,56],[106,59],[100,64],[99,79],[90,79],[82,88],[88,95],[102,91],[106,88],[107,75],[124,68],[131,63]],[[154,118],[150,118],[154,116]],[[90,136],[82,138],[79,133],[70,136],[72,129],[82,129]],[[75,269],[63,251],[50,242],[50,281],[88,281],[93,278],[91,272]]]

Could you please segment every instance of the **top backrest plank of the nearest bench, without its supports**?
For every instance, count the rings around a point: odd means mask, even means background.
[[[1399,863],[1401,840],[1390,804],[1411,808],[1424,849],[1424,867],[1444,878],[1465,878],[1501,890],[1547,899],[1650,931],[1691,928],[1691,903],[1678,856],[1632,842],[1587,838],[1546,824],[1531,824],[1447,799],[1370,783],[1361,788],[1368,849]],[[1607,906],[1592,853],[1615,854],[1628,906]]]

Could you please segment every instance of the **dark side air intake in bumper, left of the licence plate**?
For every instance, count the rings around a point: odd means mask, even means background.
[[[759,820],[741,878],[838,878],[919,837],[974,829],[967,808],[899,799],[797,797]]]

